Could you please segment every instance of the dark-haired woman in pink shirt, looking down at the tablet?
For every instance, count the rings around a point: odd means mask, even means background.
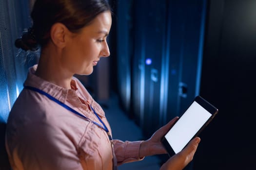
[[[122,163],[166,153],[160,138],[173,119],[146,141],[112,140],[104,112],[74,74],[89,75],[110,55],[106,38],[111,9],[106,0],[36,0],[32,28],[16,41],[40,49],[24,89],[10,112],[6,149],[13,170],[115,170]],[[184,168],[199,138],[161,169]]]

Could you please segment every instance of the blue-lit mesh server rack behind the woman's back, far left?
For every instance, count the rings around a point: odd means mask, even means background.
[[[27,0],[0,0],[0,169],[10,170],[5,151],[5,126],[10,109],[23,88],[30,63],[16,56],[14,46],[23,29],[28,28],[29,5]]]

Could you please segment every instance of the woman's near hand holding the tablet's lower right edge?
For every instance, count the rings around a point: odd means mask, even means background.
[[[196,137],[189,142],[189,144],[179,153],[172,156],[166,163],[164,163],[160,170],[182,170],[187,164],[192,161],[195,152],[197,151],[200,138]]]

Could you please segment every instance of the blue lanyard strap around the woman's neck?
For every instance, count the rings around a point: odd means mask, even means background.
[[[82,118],[84,118],[84,119],[87,119],[87,120],[93,122],[93,123],[96,124],[98,127],[100,127],[101,129],[103,129],[104,131],[106,131],[106,133],[107,133],[107,135],[108,135],[108,137],[109,137],[109,140],[112,140],[112,137],[111,137],[111,135],[110,135],[110,133],[109,133],[109,130],[108,130],[107,126],[106,126],[105,123],[99,118],[98,114],[97,114],[96,111],[93,109],[93,107],[91,106],[91,104],[90,104],[90,107],[91,107],[91,109],[93,110],[93,113],[97,116],[98,120],[102,123],[103,126],[101,126],[101,125],[98,124],[97,122],[92,121],[91,119],[85,117],[84,115],[80,114],[79,112],[77,112],[77,111],[74,110],[73,108],[69,107],[68,105],[64,104],[63,102],[58,101],[58,100],[57,100],[56,98],[54,98],[53,96],[49,95],[48,93],[46,93],[46,92],[44,92],[44,91],[42,91],[42,90],[40,90],[40,89],[38,89],[38,88],[36,88],[36,87],[25,86],[25,85],[24,85],[24,88],[25,88],[25,89],[32,90],[32,91],[36,91],[36,92],[38,92],[38,93],[40,93],[40,94],[46,96],[46,97],[49,98],[50,100],[52,100],[52,101],[54,101],[54,102],[57,102],[59,105],[61,105],[62,107],[66,108],[67,110],[69,110],[69,111],[75,113],[75,114],[78,115],[79,117],[82,117]]]

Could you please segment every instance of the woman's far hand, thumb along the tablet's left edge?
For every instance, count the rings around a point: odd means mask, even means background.
[[[164,149],[162,143],[161,143],[161,138],[174,125],[174,123],[177,121],[177,119],[178,119],[178,117],[172,119],[165,126],[158,129],[153,134],[153,136],[151,136],[150,139],[148,139],[146,141],[143,141],[140,145],[139,157],[167,153],[166,150]]]

